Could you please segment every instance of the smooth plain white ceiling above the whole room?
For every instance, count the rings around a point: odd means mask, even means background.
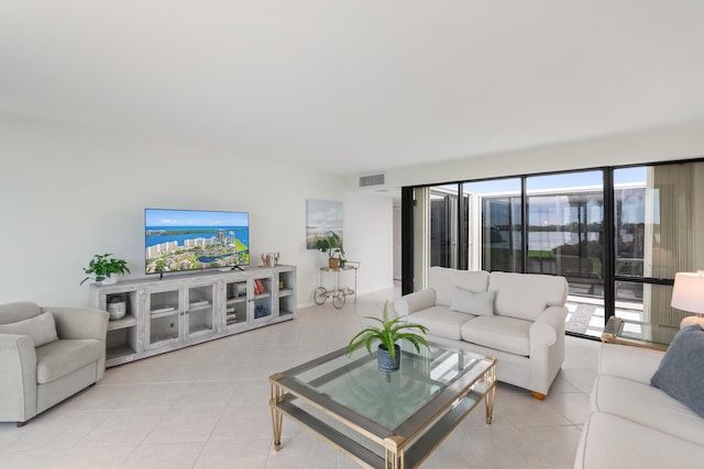
[[[704,120],[702,0],[0,0],[0,112],[364,174]]]

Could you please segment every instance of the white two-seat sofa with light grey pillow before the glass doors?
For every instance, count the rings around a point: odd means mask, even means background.
[[[453,311],[466,291],[493,292],[493,311],[491,303],[482,315]],[[429,340],[495,357],[499,381],[544,399],[564,359],[566,297],[563,277],[431,267],[428,288],[402,297],[394,308],[428,327]]]

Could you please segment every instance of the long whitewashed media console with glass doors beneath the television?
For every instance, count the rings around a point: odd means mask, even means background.
[[[296,317],[296,267],[174,273],[91,286],[94,306],[127,300],[108,323],[106,366],[113,367]]]

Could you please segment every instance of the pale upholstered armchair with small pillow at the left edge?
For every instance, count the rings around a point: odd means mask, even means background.
[[[108,312],[0,305],[0,422],[30,418],[102,378]]]

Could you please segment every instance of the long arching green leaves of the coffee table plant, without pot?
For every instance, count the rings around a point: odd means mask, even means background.
[[[388,355],[391,356],[394,362],[396,361],[396,348],[394,345],[402,339],[406,339],[413,344],[416,348],[416,351],[420,351],[420,346],[424,345],[427,348],[428,343],[426,338],[419,334],[414,332],[409,332],[409,330],[418,330],[421,333],[427,333],[428,328],[420,324],[411,324],[404,322],[400,317],[396,317],[395,320],[388,319],[388,302],[384,303],[384,311],[382,313],[382,319],[374,316],[365,316],[369,320],[376,321],[381,324],[380,327],[369,326],[364,330],[360,331],[348,345],[348,355],[352,355],[354,350],[356,350],[360,346],[365,345],[366,350],[372,353],[372,344],[375,340],[382,343],[384,348],[388,350]]]

